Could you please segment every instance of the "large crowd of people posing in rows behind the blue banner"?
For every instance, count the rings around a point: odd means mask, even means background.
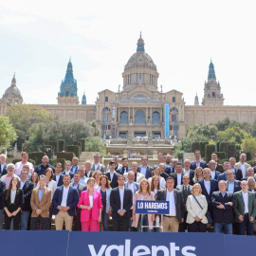
[[[47,155],[35,169],[27,153],[15,165],[0,155],[0,229],[46,230],[52,219],[57,230],[214,232],[253,235],[256,216],[256,168],[234,157],[223,165],[212,154],[184,164],[172,155],[158,155],[158,164],[148,165],[115,155],[107,168],[101,155],[79,166],[78,157],[64,166],[49,164]],[[137,213],[137,200],[167,201],[168,214]],[[160,222],[160,224],[159,224]]]

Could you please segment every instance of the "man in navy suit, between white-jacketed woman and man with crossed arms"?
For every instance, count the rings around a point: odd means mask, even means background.
[[[208,203],[208,210],[210,211],[211,217],[213,214],[213,206],[211,202],[211,194],[212,192],[218,191],[218,181],[210,178],[210,169],[204,169],[204,178],[199,180],[198,182],[202,188],[202,194],[206,196]]]

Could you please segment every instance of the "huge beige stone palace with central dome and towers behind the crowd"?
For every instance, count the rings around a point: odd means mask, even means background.
[[[225,106],[220,82],[210,61],[204,98],[197,95],[194,105],[186,105],[182,92],[175,89],[163,92],[158,86],[159,73],[153,59],[145,52],[144,40],[137,40],[137,51],[124,65],[123,86],[118,92],[105,89],[99,92],[96,104],[86,104],[83,94],[80,104],[77,81],[71,61],[67,64],[64,80],[58,94],[58,104],[43,104],[53,117],[63,120],[91,121],[95,119],[101,137],[185,137],[186,127],[195,123],[216,123],[229,118],[252,123],[256,119],[255,106]],[[20,90],[15,75],[0,100],[0,114],[7,107],[21,104]]]

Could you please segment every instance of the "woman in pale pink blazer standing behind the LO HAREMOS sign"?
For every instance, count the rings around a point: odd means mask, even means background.
[[[142,232],[141,226],[148,226],[149,228],[144,228],[145,231],[153,231],[153,222],[155,221],[154,214],[139,214],[136,213],[136,202],[137,200],[155,201],[155,194],[151,192],[149,181],[143,178],[139,184],[139,190],[134,196],[133,205],[133,224],[132,227],[137,228],[138,232]]]

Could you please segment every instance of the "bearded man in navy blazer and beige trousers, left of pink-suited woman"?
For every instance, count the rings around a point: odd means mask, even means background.
[[[54,192],[52,203],[54,206],[56,230],[72,230],[73,217],[76,215],[76,206],[79,202],[79,192],[70,186],[70,175],[64,174],[64,185]]]

